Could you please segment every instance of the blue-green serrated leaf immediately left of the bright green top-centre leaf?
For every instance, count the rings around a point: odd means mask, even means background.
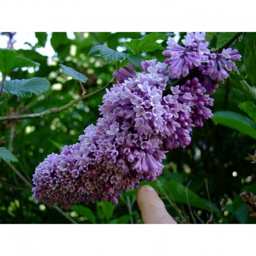
[[[115,51],[113,49],[108,48],[105,45],[96,45],[91,48],[88,55],[97,55],[102,58],[106,63],[112,60],[124,60],[126,59],[125,53],[120,53],[119,51]]]

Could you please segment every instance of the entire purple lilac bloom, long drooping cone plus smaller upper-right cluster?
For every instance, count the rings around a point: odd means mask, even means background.
[[[228,77],[225,69],[235,69],[232,60],[240,55],[231,49],[211,54],[204,33],[189,33],[182,42],[185,47],[167,42],[163,54],[170,58],[164,63],[146,60],[141,72],[131,64],[114,72],[117,83],[106,89],[97,124],[84,130],[79,143],[50,154],[36,168],[32,192],[37,202],[63,208],[95,201],[116,204],[122,191],[155,181],[168,150],[189,145],[192,128],[212,116],[208,106],[214,100],[208,93]],[[169,78],[186,77],[195,67],[201,77],[164,94]]]

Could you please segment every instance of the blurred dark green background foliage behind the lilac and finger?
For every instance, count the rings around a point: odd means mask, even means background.
[[[217,48],[227,40],[227,34],[207,33],[207,40],[210,40],[212,48]],[[17,69],[11,72],[9,77],[44,77],[50,81],[51,89],[32,98],[12,97],[6,104],[0,105],[0,116],[37,113],[63,106],[78,98],[82,94],[79,83],[62,74],[59,64],[72,67],[86,75],[89,79],[84,88],[88,92],[105,86],[112,79],[116,63],[106,64],[97,56],[88,56],[92,46],[104,44],[111,49],[132,54],[125,47],[125,42],[139,39],[143,35],[145,33],[140,32],[74,32],[70,38],[65,32],[36,32],[36,44],[27,42],[29,50],[18,49],[17,53],[39,63],[39,68]],[[174,36],[173,33],[167,35]],[[184,33],[180,33],[180,37],[183,35]],[[15,48],[11,34],[5,33],[1,36],[8,36],[9,47]],[[232,45],[239,50],[243,58],[246,45],[252,36],[255,35],[243,34],[239,41]],[[52,57],[38,52],[48,41],[55,52]],[[165,42],[162,42],[162,46],[166,47]],[[144,60],[164,60],[162,50],[141,53],[140,57]],[[237,65],[240,75],[246,77],[243,58]],[[246,83],[251,89],[255,86],[254,78],[246,77]],[[239,104],[255,104],[255,97],[239,86],[240,80],[227,79],[212,96],[215,100],[212,112],[219,112],[220,117],[220,111],[232,111],[248,117]],[[61,146],[76,143],[78,136],[88,125],[96,124],[102,96],[103,92],[79,102],[67,111],[42,119],[2,121],[0,147],[6,147],[17,157],[18,162],[12,163],[13,167],[31,181],[35,168],[48,154],[59,153]],[[1,101],[4,97],[3,95]],[[249,153],[254,154],[256,140],[253,136],[245,134],[243,129],[239,130],[239,122],[233,124],[225,118],[224,116],[224,121],[228,122],[225,126],[221,125],[223,118],[219,118],[214,120],[215,123],[207,120],[203,128],[194,129],[192,142],[187,148],[169,151],[167,159],[164,160],[162,176],[154,183],[143,182],[157,189],[168,212],[179,223],[255,223],[255,218],[249,216],[250,212],[240,193],[245,190],[248,193],[256,193],[256,165],[252,164],[248,157]],[[243,120],[241,122],[243,123]],[[97,202],[88,206],[77,205],[60,214],[53,207],[35,203],[31,197],[31,188],[13,173],[10,165],[1,160],[0,223],[69,223],[69,216],[81,224],[140,224],[142,220],[136,204],[136,190],[124,192],[116,206],[109,202]]]

